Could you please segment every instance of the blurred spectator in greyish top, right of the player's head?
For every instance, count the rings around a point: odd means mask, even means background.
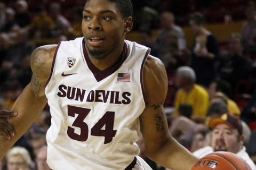
[[[165,64],[167,70],[175,70],[185,65],[182,56],[186,52],[186,40],[181,27],[175,25],[172,12],[164,11],[161,14],[162,29],[156,37],[156,56]]]

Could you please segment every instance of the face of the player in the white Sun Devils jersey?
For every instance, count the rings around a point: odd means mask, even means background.
[[[82,31],[91,57],[104,58],[123,48],[126,21],[115,3],[88,1],[84,6]]]

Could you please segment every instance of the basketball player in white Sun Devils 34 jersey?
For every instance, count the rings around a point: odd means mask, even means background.
[[[171,169],[191,169],[197,158],[175,141],[163,103],[163,63],[145,46],[125,40],[132,29],[130,0],[87,0],[83,37],[37,48],[33,77],[12,108],[15,135],[0,137],[0,157],[48,102],[51,169],[151,169],[135,145],[141,131],[147,156]],[[183,160],[183,161],[182,161]]]

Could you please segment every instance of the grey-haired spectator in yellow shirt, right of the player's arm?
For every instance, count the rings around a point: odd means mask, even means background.
[[[175,86],[178,91],[175,96],[175,113],[181,103],[188,103],[193,107],[193,119],[204,117],[209,105],[209,95],[202,86],[196,82],[196,75],[189,66],[180,66],[175,77]]]

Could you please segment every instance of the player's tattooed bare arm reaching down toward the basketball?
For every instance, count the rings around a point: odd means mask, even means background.
[[[150,55],[143,67],[143,85],[146,108],[140,116],[140,124],[147,157],[167,168],[191,169],[197,158],[171,137],[167,126],[163,107],[167,93],[165,67]]]

